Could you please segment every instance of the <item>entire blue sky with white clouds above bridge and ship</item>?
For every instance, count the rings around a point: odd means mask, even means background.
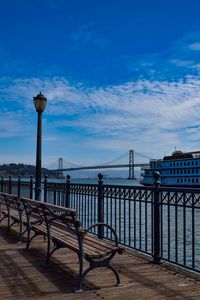
[[[0,164],[200,150],[199,0],[0,0]]]

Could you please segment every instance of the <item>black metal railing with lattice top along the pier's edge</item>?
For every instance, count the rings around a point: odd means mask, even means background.
[[[157,174],[158,175],[158,174]],[[28,182],[1,178],[0,191],[34,198]],[[165,260],[200,272],[200,189],[154,186],[43,182],[43,201],[75,209],[87,228],[96,222],[112,226],[119,243],[146,253],[155,263]],[[112,238],[99,227],[99,236]]]

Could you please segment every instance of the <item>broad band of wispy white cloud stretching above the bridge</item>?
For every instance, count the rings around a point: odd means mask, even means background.
[[[31,99],[38,87],[48,98],[45,114],[53,118],[51,128],[77,129],[87,136],[84,143],[90,146],[121,149],[134,145],[145,152],[160,152],[185,147],[187,141],[188,148],[198,147],[200,80],[196,77],[176,82],[138,80],[104,88],[71,85],[57,77],[18,79],[10,81],[3,94],[8,101],[24,106],[28,115],[34,109]],[[2,129],[8,127],[11,132],[15,128],[16,135],[24,131],[20,117],[9,117],[7,123],[5,119]]]

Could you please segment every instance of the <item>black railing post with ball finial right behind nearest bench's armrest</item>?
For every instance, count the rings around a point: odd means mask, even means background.
[[[103,196],[103,175],[98,174],[98,223],[104,222],[104,196]],[[103,226],[98,226],[98,237],[103,238]]]

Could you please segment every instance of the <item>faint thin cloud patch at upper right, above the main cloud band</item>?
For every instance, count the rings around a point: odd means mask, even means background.
[[[134,81],[179,81],[188,74],[199,75],[200,32],[188,33],[160,52],[129,55],[118,59],[120,72]],[[110,66],[113,69],[113,66]],[[120,70],[120,71],[119,71]]]

